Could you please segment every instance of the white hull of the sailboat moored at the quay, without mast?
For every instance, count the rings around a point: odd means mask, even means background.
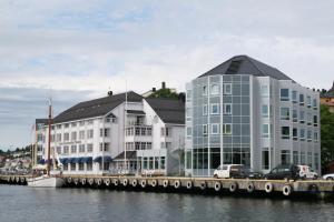
[[[27,180],[28,186],[32,188],[61,188],[65,183],[62,178],[52,175],[41,175],[38,178],[30,178]]]

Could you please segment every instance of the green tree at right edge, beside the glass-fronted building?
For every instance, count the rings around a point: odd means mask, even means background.
[[[326,105],[321,105],[321,139],[324,171],[328,163],[334,161],[334,113],[331,113]]]

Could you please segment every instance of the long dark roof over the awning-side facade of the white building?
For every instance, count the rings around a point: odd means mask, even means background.
[[[140,102],[143,97],[130,91],[128,92],[128,101]],[[53,120],[55,123],[69,122],[73,120],[101,117],[110,112],[117,105],[126,101],[126,93],[109,95],[96,100],[80,102],[70,109],[61,112]]]

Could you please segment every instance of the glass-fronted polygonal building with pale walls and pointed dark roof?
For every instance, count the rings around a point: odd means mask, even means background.
[[[318,173],[320,94],[275,68],[234,57],[186,85],[186,175],[219,164],[268,172],[308,164]]]

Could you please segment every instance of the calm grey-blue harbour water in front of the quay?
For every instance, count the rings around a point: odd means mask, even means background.
[[[0,185],[0,222],[334,221],[334,203]]]

